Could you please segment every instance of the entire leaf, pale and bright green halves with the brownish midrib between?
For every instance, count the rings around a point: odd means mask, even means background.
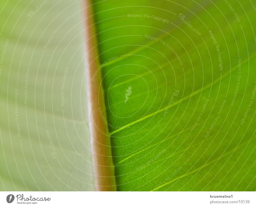
[[[0,2],[0,190],[256,190],[255,3],[92,3]]]

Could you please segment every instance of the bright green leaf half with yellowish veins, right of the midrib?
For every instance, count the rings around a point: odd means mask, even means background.
[[[117,190],[254,191],[255,3],[93,3]]]

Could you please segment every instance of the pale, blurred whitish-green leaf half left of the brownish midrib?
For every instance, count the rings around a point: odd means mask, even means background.
[[[0,5],[0,190],[93,190],[82,4]]]

